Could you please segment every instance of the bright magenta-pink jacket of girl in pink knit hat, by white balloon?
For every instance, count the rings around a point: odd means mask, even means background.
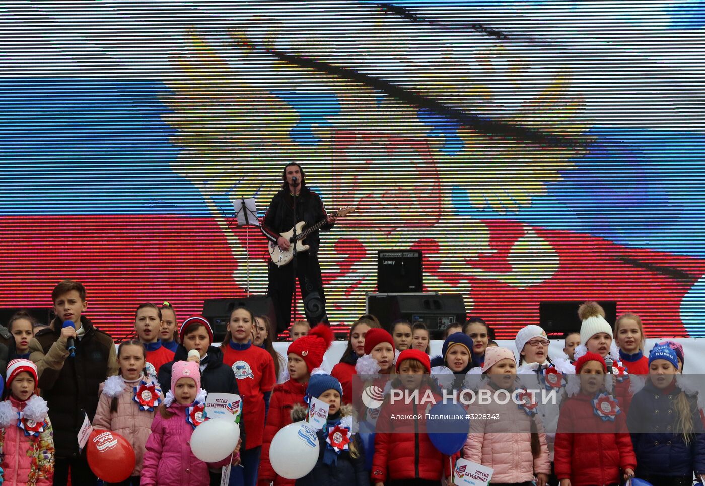
[[[208,468],[221,468],[230,456],[219,463],[204,463],[191,452],[193,428],[186,422],[186,407],[174,402],[163,418],[157,411],[152,422],[152,435],[147,439],[142,460],[141,486],[209,486]]]

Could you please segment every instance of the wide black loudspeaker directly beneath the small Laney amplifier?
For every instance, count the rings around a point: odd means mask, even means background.
[[[424,323],[433,335],[450,324],[465,323],[467,315],[461,294],[369,294],[367,313],[378,318],[386,330],[395,320],[403,319]]]

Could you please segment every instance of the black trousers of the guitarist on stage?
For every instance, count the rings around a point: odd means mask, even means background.
[[[296,270],[294,270],[294,265]],[[294,275],[295,272],[295,275]],[[326,318],[326,296],[323,292],[321,266],[317,254],[299,253],[296,261],[278,267],[269,261],[269,285],[266,294],[274,301],[276,328],[282,332],[291,323],[291,298],[295,279],[299,281],[306,320],[314,326]]]

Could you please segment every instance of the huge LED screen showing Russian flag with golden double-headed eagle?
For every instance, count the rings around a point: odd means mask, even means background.
[[[376,251],[424,251],[499,337],[539,302],[604,299],[647,332],[705,329],[700,1],[5,2],[0,307],[75,278],[125,334],[266,289],[233,224],[298,161],[329,208],[336,325]],[[301,312],[301,311],[300,311]],[[343,330],[343,328],[339,328]]]

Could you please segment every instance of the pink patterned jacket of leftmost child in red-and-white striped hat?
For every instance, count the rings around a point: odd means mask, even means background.
[[[37,397],[39,398],[39,397]],[[26,401],[8,399],[17,411]],[[3,486],[51,486],[54,482],[54,432],[49,416],[44,418],[44,432],[28,437],[15,423],[0,428]]]

